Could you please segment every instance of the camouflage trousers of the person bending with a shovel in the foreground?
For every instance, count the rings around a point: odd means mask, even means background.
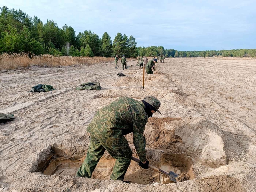
[[[103,134],[104,136],[95,138],[90,135],[90,145],[87,151],[84,163],[76,172],[78,177],[92,177],[96,165],[100,161],[105,150],[116,159],[113,172],[110,176],[111,180],[124,180],[124,175],[131,163],[132,150],[128,141],[122,135],[121,130],[111,130]],[[99,134],[97,134],[99,136]]]

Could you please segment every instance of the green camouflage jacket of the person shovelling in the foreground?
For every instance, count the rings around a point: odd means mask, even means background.
[[[140,161],[146,161],[146,139],[143,132],[148,115],[144,108],[142,101],[121,97],[97,111],[87,131],[96,138],[99,132],[111,132],[116,129],[122,130],[123,135],[133,132],[133,144]]]

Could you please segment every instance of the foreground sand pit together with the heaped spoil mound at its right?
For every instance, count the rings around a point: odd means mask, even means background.
[[[202,117],[149,118],[144,131],[147,159],[150,164],[165,172],[173,171],[182,175],[184,180],[195,179],[200,170],[204,172],[209,167],[215,168],[226,164],[221,133],[217,132],[217,129],[215,124]],[[132,149],[132,156],[138,158],[133,146],[132,133],[125,138]],[[76,175],[84,161],[87,148],[53,144],[38,154],[29,172],[43,172],[44,175]],[[115,159],[105,152],[92,178],[110,179],[114,164]],[[142,169],[133,161],[124,180],[144,185],[155,182],[169,183],[168,177],[150,169]]]

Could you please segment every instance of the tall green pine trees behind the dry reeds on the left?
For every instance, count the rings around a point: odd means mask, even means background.
[[[136,41],[133,36],[117,33],[113,42],[107,32],[100,38],[96,33],[84,31],[75,34],[74,28],[59,28],[53,20],[45,24],[31,18],[21,10],[3,6],[0,13],[0,53],[30,52],[35,55],[103,56],[116,54],[136,57]]]

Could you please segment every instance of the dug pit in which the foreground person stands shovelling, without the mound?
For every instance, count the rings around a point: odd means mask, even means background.
[[[85,150],[79,147],[79,149],[72,147],[68,148],[68,150],[67,148],[63,150],[63,146],[61,148],[62,150],[58,148],[58,145],[54,144],[44,149],[38,154],[38,158],[33,163],[29,172],[42,172],[44,175],[76,175],[76,171],[86,156]],[[132,151],[134,150],[132,147]],[[82,156],[81,151],[84,151]],[[136,156],[135,154],[133,156]],[[172,154],[170,150],[147,148],[147,158],[150,164],[166,172],[173,171],[182,174],[184,180],[195,178],[192,160],[186,155]],[[108,153],[105,153],[94,170],[92,178],[109,180],[114,164],[115,159],[109,156]],[[167,176],[163,176],[150,169],[142,169],[138,163],[133,161],[125,174],[124,180],[143,185],[155,182],[161,182],[162,184],[170,183]]]

